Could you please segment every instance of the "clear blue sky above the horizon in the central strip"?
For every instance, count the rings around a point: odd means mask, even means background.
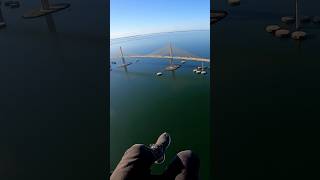
[[[209,29],[210,0],[111,0],[111,38]]]

